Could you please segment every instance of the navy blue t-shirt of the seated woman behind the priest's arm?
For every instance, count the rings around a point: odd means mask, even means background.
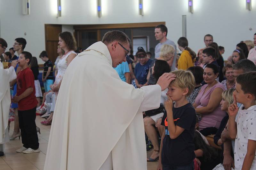
[[[147,82],[148,71],[152,61],[153,60],[148,59],[146,64],[144,64],[143,66],[140,63],[136,64],[134,74],[136,79],[139,81],[139,84],[143,85]]]

